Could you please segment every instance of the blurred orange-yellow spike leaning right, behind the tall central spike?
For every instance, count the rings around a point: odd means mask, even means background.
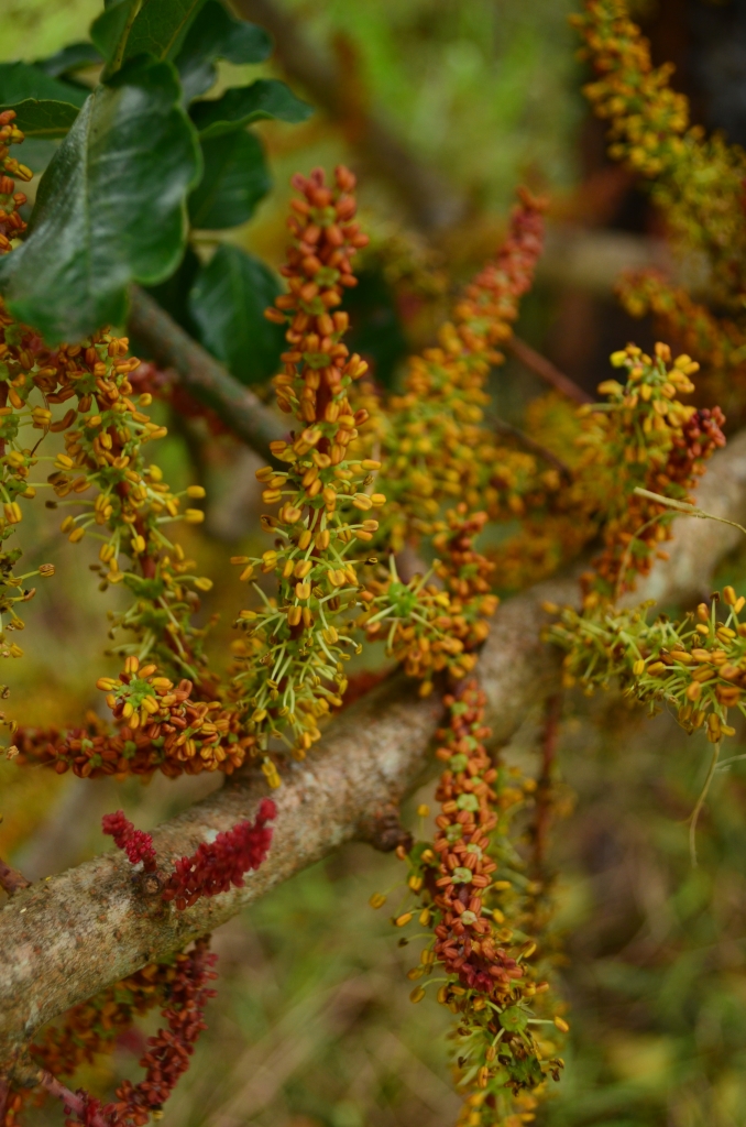
[[[384,463],[382,535],[393,551],[429,534],[444,504],[464,500],[492,520],[514,518],[526,492],[552,485],[532,454],[499,443],[485,425],[487,374],[504,360],[498,346],[512,335],[542,249],[544,203],[519,195],[504,245],[454,304],[439,346],[410,360],[403,393],[367,431]]]

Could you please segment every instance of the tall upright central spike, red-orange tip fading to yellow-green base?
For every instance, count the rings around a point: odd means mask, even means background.
[[[380,461],[349,453],[357,427],[367,419],[364,408],[353,410],[349,402],[352,385],[367,365],[349,355],[341,339],[348,318],[337,310],[343,290],[357,284],[352,258],[367,242],[353,222],[355,177],[339,167],[328,187],[317,169],[309,179],[294,177],[293,185],[301,198],[292,204],[293,242],[283,267],[290,292],[276,299],[267,317],[288,323],[284,371],[273,382],[279,407],[294,412],[302,429],[290,442],[272,443],[286,470],[257,471],[264,503],[278,507],[276,515],[261,518],[275,548],[256,559],[233,558],[242,580],[258,574],[277,580],[273,598],[254,585],[263,605],[241,611],[238,625],[247,638],[233,646],[234,698],[270,786],[279,777],[269,740],[284,742],[303,757],[320,736],[319,720],[341,704],[343,663],[354,642],[340,614],[357,605],[366,565],[366,558],[349,553],[356,542],[373,540],[376,513],[385,503],[374,488]]]

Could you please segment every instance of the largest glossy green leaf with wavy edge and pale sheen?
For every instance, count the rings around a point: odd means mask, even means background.
[[[50,344],[122,323],[130,282],[179,261],[199,152],[178,97],[170,63],[136,61],[89,97],[44,174],[0,286]]]

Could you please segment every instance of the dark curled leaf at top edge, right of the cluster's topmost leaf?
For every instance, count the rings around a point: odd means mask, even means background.
[[[217,0],[207,0],[176,59],[185,103],[214,83],[216,59],[230,63],[260,63],[270,52],[272,39],[263,27],[236,19]]]

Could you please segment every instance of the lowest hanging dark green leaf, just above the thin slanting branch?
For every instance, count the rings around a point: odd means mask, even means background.
[[[199,339],[242,383],[258,383],[277,371],[283,329],[264,311],[279,291],[272,270],[239,247],[221,247],[199,269],[189,295]]]

